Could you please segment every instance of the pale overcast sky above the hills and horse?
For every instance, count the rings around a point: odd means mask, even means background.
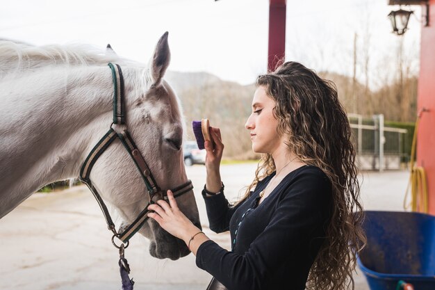
[[[287,1],[286,60],[317,71],[352,75],[358,34],[359,79],[364,51],[370,72],[392,70],[400,38],[391,33],[388,0]],[[268,51],[268,0],[0,0],[0,38],[35,45],[80,42],[146,62],[169,31],[170,70],[211,72],[252,83],[264,73]],[[420,7],[411,6],[404,49],[418,70]]]

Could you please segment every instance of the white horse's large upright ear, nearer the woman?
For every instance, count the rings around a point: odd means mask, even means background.
[[[161,83],[163,75],[170,63],[171,53],[167,44],[167,31],[158,40],[154,56],[151,59],[151,78],[154,81],[153,86]]]

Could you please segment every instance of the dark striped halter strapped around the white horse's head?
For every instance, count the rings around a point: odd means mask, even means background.
[[[115,90],[113,94],[113,124],[125,125],[124,78],[122,77],[121,67],[120,65],[114,65],[112,63],[108,63],[108,66],[112,70],[113,86]],[[138,217],[133,221],[133,223],[131,223],[131,225],[124,229],[120,229],[120,233],[116,232],[115,224],[113,223],[113,220],[108,213],[106,204],[104,204],[104,201],[102,200],[97,189],[92,185],[92,182],[90,180],[90,171],[92,170],[92,166],[94,166],[99,156],[103,154],[103,152],[116,138],[120,138],[125,149],[127,150],[127,152],[129,152],[131,158],[133,159],[136,167],[140,172],[140,175],[142,176],[142,179],[145,182],[145,185],[147,186],[147,191],[149,194],[149,203],[147,204],[145,209],[140,212]],[[131,237],[136,234],[136,232],[138,232],[140,227],[142,227],[142,225],[145,223],[145,220],[147,220],[147,207],[149,206],[149,204],[154,202],[153,199],[155,197],[158,197],[157,199],[163,198],[167,200],[166,193],[164,191],[161,191],[161,188],[157,186],[156,180],[151,174],[151,170],[149,170],[145,159],[142,157],[142,154],[140,154],[138,147],[136,147],[136,144],[134,143],[127,129],[119,133],[115,131],[112,126],[110,126],[110,129],[107,131],[107,133],[103,136],[103,138],[99,140],[97,145],[92,148],[92,150],[88,154],[88,157],[85,159],[85,162],[83,163],[83,166],[80,170],[79,179],[81,180],[81,182],[85,183],[89,187],[90,191],[92,191],[92,194],[95,196],[95,199],[97,200],[101,211],[103,211],[104,218],[106,218],[108,229],[113,232],[112,243],[113,245],[115,245],[116,248],[120,248],[120,246],[116,245],[113,241],[115,236],[120,239],[122,243],[126,243],[125,247],[122,247],[126,248],[126,246],[129,244],[129,239],[131,239]],[[188,180],[188,182],[181,184],[181,186],[173,188],[172,192],[174,193],[174,198],[178,198],[184,193],[188,193],[188,191],[191,191],[192,189],[192,182]]]

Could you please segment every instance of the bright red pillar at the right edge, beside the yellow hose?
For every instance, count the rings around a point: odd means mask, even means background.
[[[429,26],[421,29],[420,77],[417,106],[422,113],[417,133],[417,163],[425,168],[429,191],[429,214],[435,215],[435,0],[429,0]],[[422,6],[425,22],[426,7]],[[405,35],[406,36],[406,35]]]

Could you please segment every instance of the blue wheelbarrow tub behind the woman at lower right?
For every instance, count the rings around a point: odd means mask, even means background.
[[[435,216],[411,212],[364,211],[367,245],[358,257],[371,290],[435,290]]]

